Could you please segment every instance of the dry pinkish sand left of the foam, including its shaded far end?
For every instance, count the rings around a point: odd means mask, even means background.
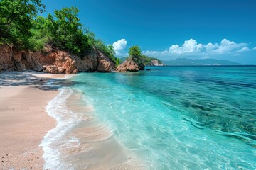
[[[55,127],[44,110],[58,91],[45,82],[63,75],[35,72],[0,74],[0,169],[42,169],[43,136]]]

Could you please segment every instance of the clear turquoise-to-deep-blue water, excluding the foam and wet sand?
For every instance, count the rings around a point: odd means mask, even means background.
[[[93,114],[148,169],[256,169],[256,67],[81,73]]]

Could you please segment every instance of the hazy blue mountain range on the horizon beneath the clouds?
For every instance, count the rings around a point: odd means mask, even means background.
[[[178,58],[175,60],[164,61],[167,66],[207,66],[207,65],[245,65],[238,62],[230,62],[228,60],[215,60],[215,59],[187,59],[187,58]]]

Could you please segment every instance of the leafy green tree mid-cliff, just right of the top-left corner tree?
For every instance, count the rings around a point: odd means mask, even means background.
[[[78,8],[62,8],[54,11],[54,16],[48,15],[48,29],[53,37],[53,45],[63,50],[80,55],[90,52],[89,38],[85,35],[85,28],[80,23]]]

